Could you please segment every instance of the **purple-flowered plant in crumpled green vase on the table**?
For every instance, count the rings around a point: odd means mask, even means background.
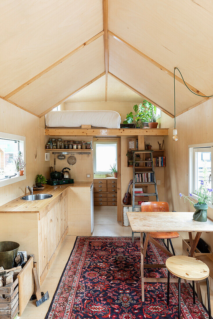
[[[200,222],[207,221],[207,209],[208,204],[211,203],[212,198],[212,188],[207,188],[207,182],[201,181],[200,188],[196,191],[196,195],[198,197],[198,202],[192,198],[192,194],[190,193],[190,196],[185,196],[184,194],[180,193],[180,198],[184,198],[184,202],[188,201],[192,207],[196,209],[196,211],[193,214],[193,219]]]

